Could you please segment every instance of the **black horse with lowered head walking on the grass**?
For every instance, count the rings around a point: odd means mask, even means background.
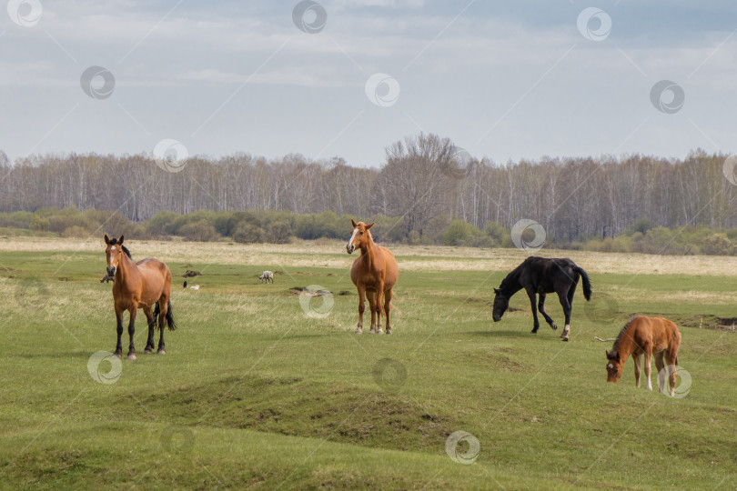
[[[583,268],[568,258],[565,259],[548,259],[546,257],[530,256],[524,262],[514,268],[506,278],[501,281],[499,288],[494,288],[494,322],[499,322],[501,316],[510,306],[510,296],[525,289],[527,295],[530,296],[530,305],[532,306],[532,316],[535,318],[535,324],[532,332],[537,333],[540,327],[538,320],[538,308],[540,314],[550,327],[558,329],[552,318],[545,312],[545,294],[557,293],[560,299],[560,305],[563,306],[563,313],[566,316],[566,325],[563,328],[563,334],[560,337],[563,341],[568,341],[570,332],[570,306],[573,304],[573,294],[576,293],[576,286],[579,283],[579,276],[583,279],[583,296],[586,300],[591,300],[591,281]],[[535,294],[540,295],[540,302],[535,305]]]

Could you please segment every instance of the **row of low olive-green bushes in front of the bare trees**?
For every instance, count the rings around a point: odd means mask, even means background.
[[[42,208],[35,213],[0,213],[0,235],[15,234],[18,229],[32,234],[53,234],[85,238],[90,235],[126,235],[132,239],[169,239],[181,236],[186,240],[233,241],[242,244],[286,244],[294,240],[314,240],[322,237],[348,240],[353,215],[333,212],[297,215],[289,211],[247,210],[243,212],[211,212],[200,210],[187,215],[159,212],[149,220],[131,222],[118,211],[76,207]],[[383,215],[369,216],[375,222],[371,231],[378,242],[404,242],[412,245],[443,245],[471,247],[513,247],[510,227],[490,222],[482,229],[459,218],[436,217],[424,235],[404,235],[404,218]],[[650,220],[638,220],[615,237],[595,238],[583,242],[558,244],[548,240],[546,247],[668,254],[668,255],[737,255],[737,228],[717,231],[706,226],[687,225],[676,229],[655,226]]]

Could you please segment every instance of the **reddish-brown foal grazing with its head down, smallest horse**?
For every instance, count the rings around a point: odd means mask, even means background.
[[[658,369],[658,389],[665,390],[663,357],[668,364],[668,383],[671,396],[676,383],[678,348],[681,346],[681,333],[678,326],[662,317],[636,316],[620,331],[611,351],[607,351],[607,382],[617,382],[622,374],[624,362],[632,356],[635,366],[635,386],[640,386],[641,355],[645,354],[645,377],[648,390],[652,390],[650,380],[651,357],[655,354],[655,367]]]

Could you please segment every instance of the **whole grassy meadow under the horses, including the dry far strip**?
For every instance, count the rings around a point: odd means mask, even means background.
[[[609,255],[628,272],[601,273],[595,254],[541,251],[573,258],[594,287],[588,306],[577,293],[561,343],[541,318],[530,334],[523,294],[491,322],[491,289],[521,251],[405,246],[395,335],[356,336],[355,256],[340,243],[218,244],[210,262],[207,244],[126,242],[135,259],[167,261],[179,328],[166,356],[143,356],[139,315],[138,359],[102,361],[105,384],[88,370],[116,341],[102,241],[0,239],[3,488],[737,487],[737,334],[714,328],[737,316],[729,258],[724,276],[689,257],[681,273],[634,275],[659,259]],[[187,269],[203,273],[188,280],[199,290],[182,289]],[[274,285],[258,284],[264,269]],[[333,294],[302,297],[313,316],[298,295],[310,285]],[[562,326],[556,298],[548,311]],[[658,393],[654,364],[653,392],[635,388],[631,360],[606,383],[611,342],[593,336],[616,336],[634,313],[679,324],[681,397]],[[470,436],[454,460],[457,431]]]

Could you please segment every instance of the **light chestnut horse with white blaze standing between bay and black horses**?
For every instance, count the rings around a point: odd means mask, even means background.
[[[350,235],[346,250],[352,254],[357,248],[361,255],[353,262],[350,268],[350,279],[358,289],[358,328],[356,334],[363,332],[363,312],[366,309],[364,295],[368,297],[368,307],[371,309],[371,329],[368,334],[383,334],[381,331],[381,306],[383,298],[384,312],[387,315],[387,334],[391,334],[391,289],[399,278],[399,266],[391,251],[386,247],[377,246],[368,231],[374,224],[358,224],[351,219],[353,234]]]

